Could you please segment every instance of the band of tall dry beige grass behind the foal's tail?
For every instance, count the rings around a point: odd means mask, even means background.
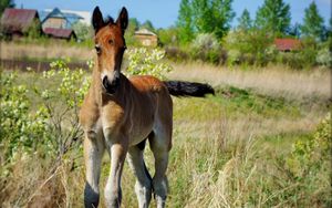
[[[331,97],[331,71],[292,71],[281,65],[243,71],[204,63],[175,64],[169,79],[195,80],[217,85],[255,89],[260,93],[289,98]]]

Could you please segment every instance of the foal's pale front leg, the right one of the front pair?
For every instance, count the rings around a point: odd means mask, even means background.
[[[120,207],[122,201],[121,175],[124,160],[128,149],[125,138],[108,141],[108,152],[111,156],[111,171],[105,187],[106,207]]]

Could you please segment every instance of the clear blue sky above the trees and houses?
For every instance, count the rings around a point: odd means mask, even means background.
[[[284,0],[291,6],[292,23],[302,23],[304,9],[312,0]],[[129,17],[137,18],[139,22],[151,20],[155,28],[167,28],[174,25],[178,14],[180,0],[14,0],[18,8],[25,9],[52,9],[58,7],[68,10],[93,11],[95,6],[100,6],[104,14],[116,18],[120,9],[125,6]],[[234,0],[232,9],[237,13],[232,24],[237,24],[237,18],[243,9],[248,9],[251,18],[255,18],[257,9],[263,0]],[[315,0],[320,14],[324,18],[325,24],[331,17],[331,0]]]

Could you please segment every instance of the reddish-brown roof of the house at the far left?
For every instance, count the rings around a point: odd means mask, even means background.
[[[7,8],[1,18],[1,24],[12,32],[23,32],[33,23],[34,18],[39,19],[37,10]]]

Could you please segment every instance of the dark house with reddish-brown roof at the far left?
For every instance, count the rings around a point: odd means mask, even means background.
[[[12,39],[23,37],[29,29],[41,30],[41,21],[37,10],[7,8],[0,21],[1,31]]]

